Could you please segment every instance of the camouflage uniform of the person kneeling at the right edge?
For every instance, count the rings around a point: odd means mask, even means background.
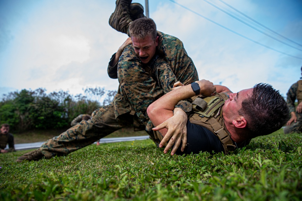
[[[298,99],[297,93],[298,93],[298,82],[291,85],[291,87],[289,88],[288,93],[287,93],[286,102],[287,102],[290,113],[291,112],[296,112],[296,110],[295,110],[295,100]],[[299,103],[301,101],[302,101],[302,99],[298,99]],[[284,133],[285,134],[287,134],[287,133],[302,133],[302,114],[296,112],[296,116],[297,116],[297,122],[296,123],[292,122],[290,126],[285,127],[284,128]]]

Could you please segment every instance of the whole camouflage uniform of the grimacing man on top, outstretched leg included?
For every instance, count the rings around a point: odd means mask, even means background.
[[[176,81],[189,84],[198,80],[196,68],[182,42],[161,32],[158,35],[156,55],[148,64],[141,63],[132,45],[124,49],[117,66],[120,85],[114,101],[95,110],[92,119],[82,120],[80,124],[47,140],[40,148],[46,158],[81,149],[130,124],[135,130],[146,127],[155,140],[151,129],[153,125],[146,113],[148,105],[168,93]],[[109,68],[112,66],[109,65],[108,73]]]

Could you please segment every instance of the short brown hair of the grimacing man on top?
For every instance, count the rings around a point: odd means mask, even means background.
[[[156,39],[156,24],[151,18],[139,18],[134,20],[129,26],[130,37],[144,39],[151,36]]]

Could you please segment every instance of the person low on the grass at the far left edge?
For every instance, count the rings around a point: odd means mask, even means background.
[[[2,124],[0,131],[0,153],[14,152],[14,136],[11,133],[8,133],[9,125]],[[9,149],[5,150],[7,144]]]

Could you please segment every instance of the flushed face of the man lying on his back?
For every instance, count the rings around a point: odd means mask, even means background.
[[[239,91],[238,93],[230,93],[230,99],[227,99],[223,105],[223,118],[226,121],[233,121],[239,116],[239,110],[242,107],[242,102],[252,93],[252,88]]]

